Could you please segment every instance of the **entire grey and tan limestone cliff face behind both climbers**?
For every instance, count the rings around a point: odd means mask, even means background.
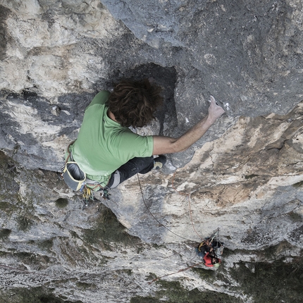
[[[1,0],[4,302],[262,302],[268,289],[299,302],[302,18],[299,0]],[[120,78],[151,77],[165,102],[140,135],[183,134],[210,95],[226,113],[161,171],[85,205],[58,172],[86,106]],[[183,271],[217,228],[223,265]],[[283,292],[255,292],[266,268]]]

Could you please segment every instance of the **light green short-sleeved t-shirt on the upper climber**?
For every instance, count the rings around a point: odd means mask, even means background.
[[[87,178],[106,186],[111,173],[130,159],[152,156],[152,136],[140,136],[107,116],[109,92],[101,91],[87,106],[71,151]]]

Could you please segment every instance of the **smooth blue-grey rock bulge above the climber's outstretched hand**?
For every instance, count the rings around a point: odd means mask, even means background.
[[[102,3],[163,56],[178,49],[171,60],[192,83],[191,102],[211,93],[234,113],[256,116],[302,100],[302,1]]]

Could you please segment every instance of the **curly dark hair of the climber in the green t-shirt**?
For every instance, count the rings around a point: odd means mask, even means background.
[[[161,87],[148,79],[121,80],[109,96],[109,110],[122,126],[142,128],[154,119],[163,102]]]

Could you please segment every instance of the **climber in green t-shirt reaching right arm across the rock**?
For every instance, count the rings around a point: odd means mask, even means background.
[[[143,127],[154,119],[162,100],[161,88],[147,79],[122,80],[113,92],[99,92],[85,109],[78,139],[69,147],[70,159],[101,190],[111,189],[136,173],[161,168],[163,154],[190,147],[224,113],[211,97],[207,115],[178,138],[132,132],[130,126]]]

